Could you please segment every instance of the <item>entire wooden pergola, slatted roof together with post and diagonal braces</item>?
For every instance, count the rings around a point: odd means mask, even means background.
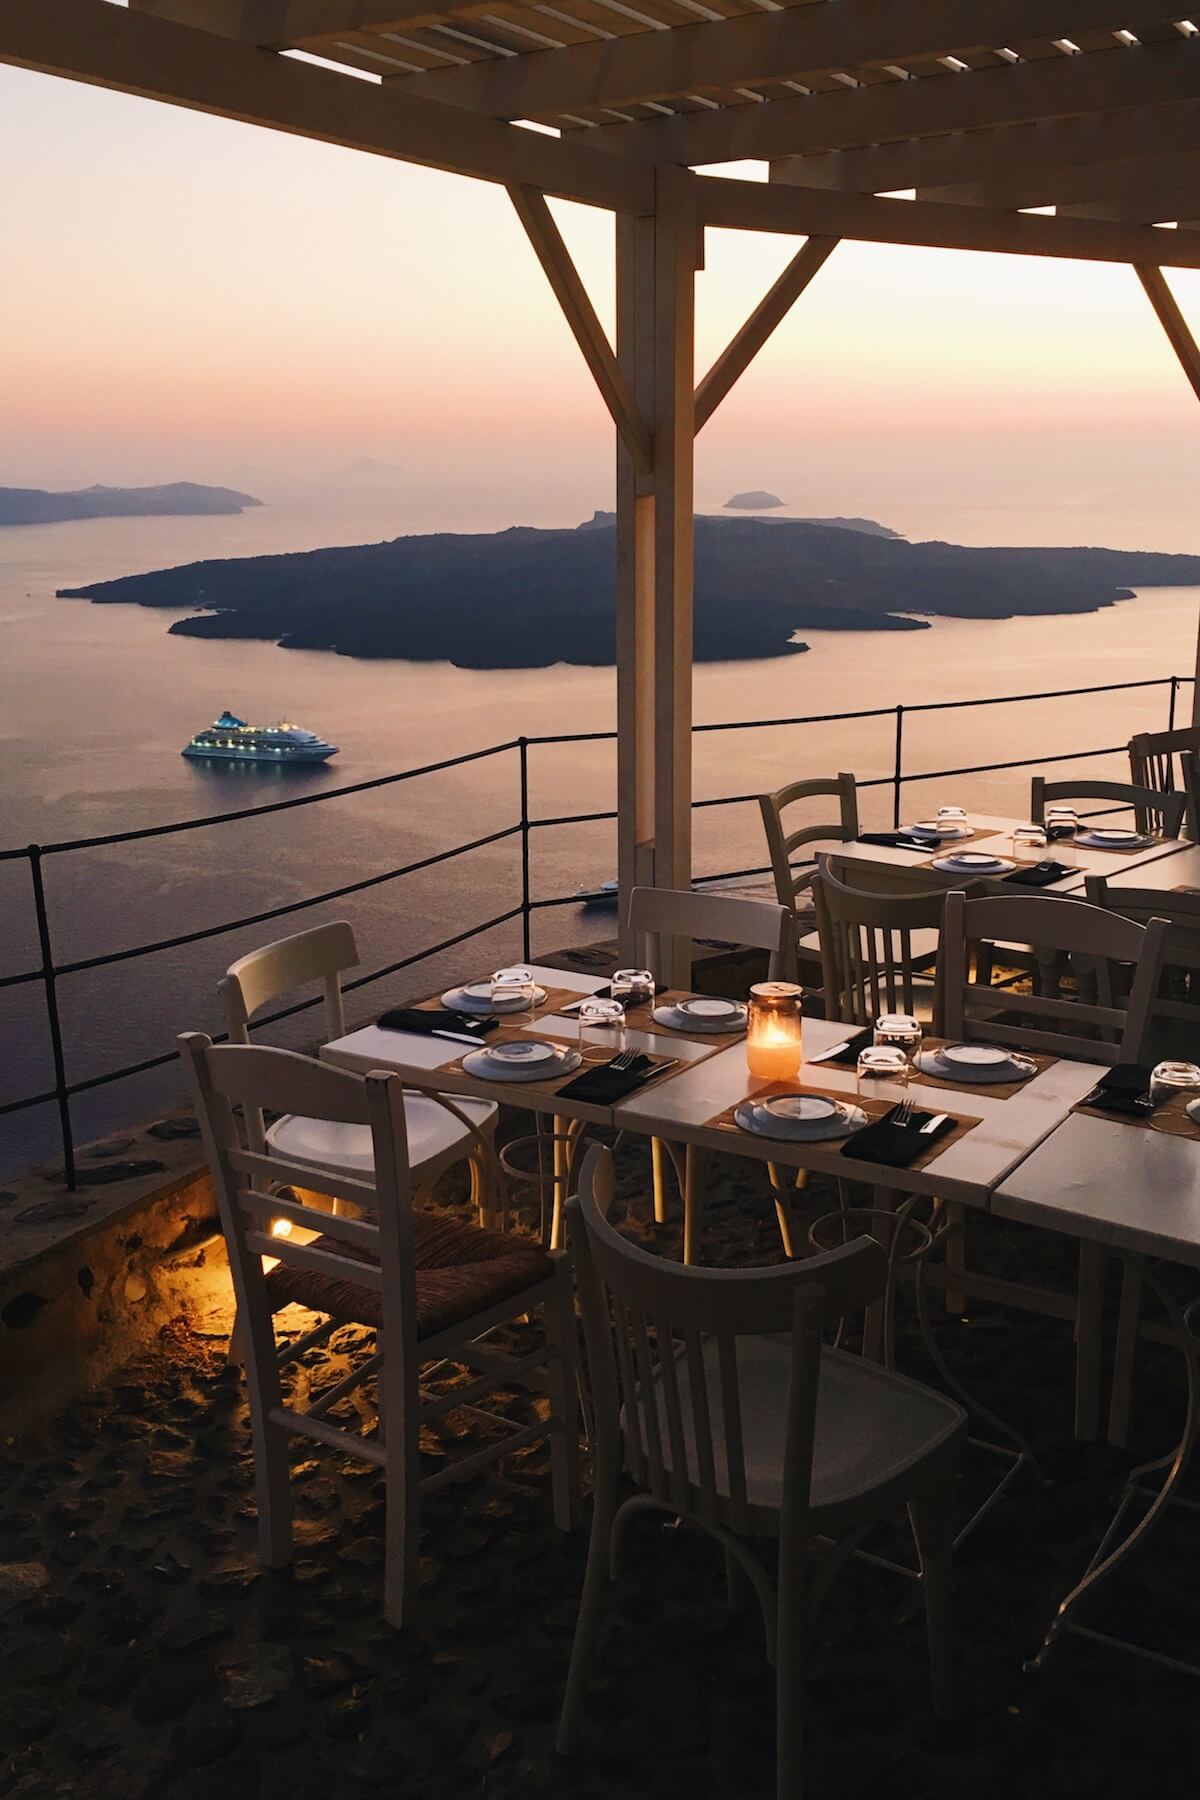
[[[509,191],[615,425],[628,893],[691,884],[694,437],[838,239],[1132,265],[1200,396],[1162,274],[1200,268],[1196,23],[1168,0],[0,0],[0,61]],[[703,173],[741,160],[770,178]],[[547,194],[615,214],[615,344]],[[709,225],[806,241],[696,383]],[[660,974],[687,985],[689,945]]]

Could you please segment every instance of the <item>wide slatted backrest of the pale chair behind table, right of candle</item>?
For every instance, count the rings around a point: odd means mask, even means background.
[[[1096,1062],[1141,1062],[1164,938],[1166,923],[1160,918],[1139,925],[1063,895],[968,900],[964,893],[948,893],[941,938],[939,1030],[952,1039],[1013,1044],[1056,1055],[1070,1051]],[[1040,959],[1051,961],[1058,954],[1078,956],[1085,968],[1088,963],[1128,965],[1133,974],[1124,1006],[1092,1006],[1045,994],[1025,995],[1011,988],[973,985],[972,945],[995,943],[1029,943]],[[1105,970],[1097,986],[1108,1001],[1114,994],[1112,968]],[[1072,1026],[1094,1026],[1099,1035],[1088,1039],[1072,1031]]]

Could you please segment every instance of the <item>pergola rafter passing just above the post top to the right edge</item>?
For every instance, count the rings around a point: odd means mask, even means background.
[[[1200,41],[1097,50],[964,74],[882,81],[637,124],[603,126],[592,142],[649,162],[739,162],[853,149],[892,139],[1031,124],[1123,106],[1200,99]]]

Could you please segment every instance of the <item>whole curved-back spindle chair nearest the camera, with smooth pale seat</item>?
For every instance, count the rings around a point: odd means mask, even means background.
[[[840,1350],[822,1327],[883,1292],[885,1256],[858,1238],[775,1269],[682,1269],[608,1222],[613,1175],[588,1152],[569,1202],[596,1402],[592,1541],[558,1750],[576,1750],[624,1525],[666,1512],[716,1539],[730,1597],[748,1580],[775,1669],[777,1795],[802,1787],[806,1640],[826,1586],[865,1532],[909,1508],[921,1559],[934,1703],[950,1710],[950,1564],[966,1415]],[[637,1494],[621,1499],[624,1480]],[[774,1588],[750,1539],[779,1543]],[[820,1568],[813,1539],[833,1550]]]

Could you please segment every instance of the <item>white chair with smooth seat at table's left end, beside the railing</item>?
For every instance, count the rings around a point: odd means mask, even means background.
[[[281,938],[237,958],[218,988],[230,1044],[250,1042],[250,1021],[263,1006],[317,983],[326,995],[327,1037],[344,1037],[342,974],[356,965],[358,947],[345,920],[313,925],[311,931]],[[471,1168],[471,1202],[479,1210],[480,1224],[495,1222],[491,1141],[498,1111],[486,1100],[457,1100],[452,1111],[435,1094],[419,1089],[405,1093],[405,1132],[414,1186],[419,1190],[432,1186],[448,1168],[466,1159]],[[246,1120],[246,1130],[252,1150],[304,1165],[309,1177],[331,1168],[371,1174],[371,1130],[365,1125],[288,1114],[266,1127],[263,1114],[254,1111]]]

